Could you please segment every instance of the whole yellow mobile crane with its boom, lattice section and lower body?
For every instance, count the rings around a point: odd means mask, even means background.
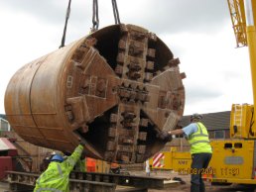
[[[212,158],[203,178],[212,183],[256,185],[256,1],[227,0],[236,47],[248,47],[253,105],[233,104],[230,114],[231,140],[212,140]],[[163,163],[170,169],[188,174],[192,158],[189,151],[161,151]],[[156,154],[155,156],[157,156]],[[154,157],[151,159],[154,163]],[[153,168],[154,164],[153,164]],[[156,167],[158,168],[158,167]],[[166,169],[167,166],[165,167]]]

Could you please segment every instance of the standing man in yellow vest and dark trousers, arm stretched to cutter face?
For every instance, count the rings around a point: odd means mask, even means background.
[[[191,124],[189,126],[169,132],[163,131],[159,134],[159,138],[166,142],[172,141],[172,135],[184,135],[191,144],[191,192],[205,191],[201,173],[206,172],[205,169],[207,168],[212,155],[208,132],[205,126],[200,122],[201,119],[202,116],[195,113],[191,116]]]

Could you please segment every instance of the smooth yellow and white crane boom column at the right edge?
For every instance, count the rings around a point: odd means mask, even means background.
[[[244,8],[246,14],[246,34],[247,44],[251,63],[251,78],[252,78],[252,91],[253,91],[253,104],[254,112],[256,105],[256,31],[254,25],[254,13],[256,11],[256,4],[251,0],[244,0]],[[254,113],[255,114],[255,113]],[[256,122],[256,116],[254,115],[254,122]],[[255,124],[253,126],[253,132],[256,131]]]

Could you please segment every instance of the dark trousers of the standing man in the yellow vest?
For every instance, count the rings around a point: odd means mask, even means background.
[[[194,153],[192,154],[192,186],[191,192],[204,192],[205,187],[201,179],[201,171],[205,171],[211,158],[211,153]]]

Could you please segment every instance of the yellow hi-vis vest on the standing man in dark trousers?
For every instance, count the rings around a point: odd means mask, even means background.
[[[189,143],[191,144],[191,153],[208,152],[211,153],[211,146],[209,144],[208,132],[206,128],[200,123],[196,123],[197,132],[189,136]]]

